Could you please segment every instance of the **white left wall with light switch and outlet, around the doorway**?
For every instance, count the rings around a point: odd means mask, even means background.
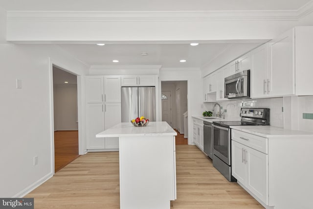
[[[0,11],[0,22],[3,19]],[[0,44],[0,197],[21,197],[53,173],[49,57],[78,75],[88,70],[55,46]],[[22,80],[22,89],[16,88],[16,79]]]

